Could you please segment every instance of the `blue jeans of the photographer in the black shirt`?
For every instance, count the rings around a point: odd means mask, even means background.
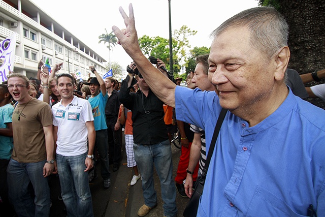
[[[164,215],[176,216],[176,188],[173,180],[172,149],[169,140],[153,145],[133,145],[137,166],[141,171],[142,190],[145,204],[153,207],[157,194],[153,182],[153,166],[160,179]]]

